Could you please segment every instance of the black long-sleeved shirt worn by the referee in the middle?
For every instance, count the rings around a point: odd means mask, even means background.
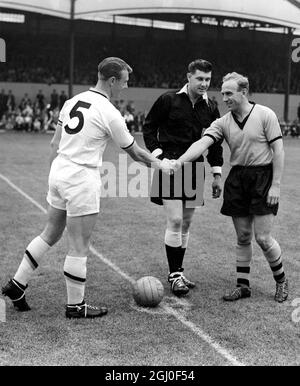
[[[193,106],[185,92],[166,92],[156,100],[145,118],[145,145],[150,152],[160,148],[163,152],[175,152],[178,158],[219,117],[219,110],[211,99],[206,101],[201,97]],[[209,147],[207,160],[211,167],[223,165],[221,142]],[[197,161],[203,162],[203,156]]]

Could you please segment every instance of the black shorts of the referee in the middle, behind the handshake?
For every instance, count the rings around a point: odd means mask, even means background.
[[[175,154],[165,154],[163,157],[176,159]],[[160,157],[162,158],[162,157]],[[187,162],[174,175],[155,170],[153,173],[150,199],[157,205],[163,205],[163,200],[188,201],[187,207],[203,205],[204,163]]]

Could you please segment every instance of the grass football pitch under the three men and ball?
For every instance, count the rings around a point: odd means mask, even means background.
[[[143,144],[141,136],[137,141]],[[0,135],[0,174],[32,199],[0,178],[1,284],[15,273],[24,248],[43,229],[45,214],[34,203],[46,207],[49,142],[48,135]],[[224,291],[235,285],[235,235],[231,219],[219,213],[222,201],[211,198],[208,172],[205,206],[195,213],[185,257],[185,273],[197,283],[188,296],[178,300],[166,282],[163,209],[148,198],[103,198],[92,237],[97,253],[88,259],[86,298],[92,304],[105,303],[108,315],[65,319],[63,237],[29,283],[32,311],[18,313],[6,301],[0,365],[299,365],[299,149],[299,140],[285,139],[285,172],[273,232],[290,281],[288,301],[273,300],[272,274],[255,244],[252,297],[222,301]],[[224,150],[225,178],[226,145]],[[118,155],[109,144],[104,160],[117,165]],[[162,303],[153,310],[136,306],[132,298],[132,283],[146,275],[157,277],[165,287]]]

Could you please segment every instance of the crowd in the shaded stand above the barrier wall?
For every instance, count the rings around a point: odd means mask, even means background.
[[[11,38],[13,39],[13,38]],[[200,44],[201,43],[201,44]],[[13,40],[0,81],[67,84],[69,81],[68,40],[49,37]],[[284,47],[284,46],[283,46]],[[66,55],[67,53],[67,55]],[[286,57],[283,49],[263,41],[209,40],[155,41],[153,39],[101,38],[75,40],[74,83],[94,84],[95,63],[105,56],[120,56],[134,72],[132,87],[178,88],[182,85],[186,63],[204,57],[214,65],[211,89],[219,89],[222,77],[231,71],[246,74],[252,92],[283,93],[285,91]],[[300,67],[292,63],[290,92],[300,94]]]

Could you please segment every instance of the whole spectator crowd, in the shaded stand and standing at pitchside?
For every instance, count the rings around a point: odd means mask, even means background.
[[[67,84],[69,82],[67,38],[50,36],[35,39],[8,37],[10,49],[2,66],[0,81]],[[129,86],[176,89],[186,81],[186,65],[203,57],[213,63],[211,90],[219,90],[222,77],[237,71],[249,77],[250,92],[284,93],[286,58],[284,50],[263,41],[160,40],[141,38],[76,37],[74,83],[93,85],[97,79],[95,63],[106,56],[124,58],[132,67]],[[300,94],[300,66],[292,64],[292,94]],[[16,103],[10,90],[0,92],[0,129],[35,132],[53,130],[67,95],[53,90],[47,101],[40,91],[33,100],[27,94]],[[126,120],[128,129],[140,131],[144,113],[135,110],[134,103],[115,101]],[[299,113],[300,115],[300,113]],[[284,135],[300,136],[300,116],[293,122],[281,122]]]

